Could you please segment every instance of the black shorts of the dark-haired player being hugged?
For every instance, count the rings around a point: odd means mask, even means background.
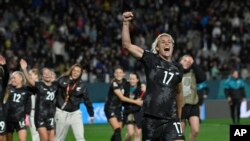
[[[138,128],[141,128],[142,125],[142,112],[135,112],[124,114],[124,123],[125,124],[135,124]]]

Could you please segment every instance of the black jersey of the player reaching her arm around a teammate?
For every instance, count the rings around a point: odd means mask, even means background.
[[[105,109],[116,110],[122,107],[122,101],[116,96],[114,90],[120,89],[122,94],[125,95],[125,93],[127,93],[127,89],[125,88],[126,82],[127,81],[125,79],[123,79],[120,83],[117,80],[112,81],[106,98],[104,106]]]

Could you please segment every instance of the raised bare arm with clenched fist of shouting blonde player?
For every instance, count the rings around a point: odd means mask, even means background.
[[[133,17],[134,15],[132,12],[124,12],[122,15],[122,47],[126,48],[135,58],[141,58],[143,55],[143,49],[139,46],[133,45],[130,39],[129,24]]]

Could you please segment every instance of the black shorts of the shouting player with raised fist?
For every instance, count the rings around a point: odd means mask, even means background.
[[[180,119],[166,120],[144,115],[142,141],[185,140]]]

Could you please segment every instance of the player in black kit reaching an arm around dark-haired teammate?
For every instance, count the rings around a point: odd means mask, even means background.
[[[108,96],[104,105],[104,112],[108,122],[114,133],[111,141],[121,141],[121,127],[122,127],[122,102],[134,103],[142,105],[141,99],[130,99],[124,95],[128,93],[126,89],[127,80],[124,78],[124,71],[121,67],[116,67],[114,70],[114,79],[111,81]]]

